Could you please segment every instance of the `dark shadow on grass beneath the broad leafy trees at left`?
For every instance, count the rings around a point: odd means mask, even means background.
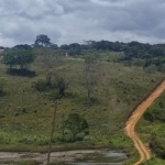
[[[7,74],[11,76],[22,76],[22,77],[30,77],[30,78],[36,76],[35,72],[29,69],[16,69],[16,68],[8,69]]]

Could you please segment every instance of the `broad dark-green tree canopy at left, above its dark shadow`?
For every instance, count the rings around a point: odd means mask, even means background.
[[[35,59],[32,51],[9,51],[3,54],[2,63],[13,68],[20,66],[20,69],[28,68]]]

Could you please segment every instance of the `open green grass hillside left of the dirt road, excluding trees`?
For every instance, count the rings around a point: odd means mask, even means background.
[[[48,96],[53,96],[55,89],[40,92],[32,88],[35,81],[45,79],[45,69],[40,64],[41,58],[44,56],[37,55],[30,68],[36,73],[34,77],[9,75],[7,67],[0,64],[0,75],[6,80],[4,96],[0,97],[1,150],[6,147],[28,150],[33,145],[48,144],[54,110],[54,102]],[[131,110],[164,75],[162,73],[148,74],[141,67],[114,64],[111,59],[99,62],[98,84],[89,105],[87,91],[80,84],[84,78],[81,76],[84,59],[73,61],[70,57],[65,57],[61,67],[66,68],[67,76],[73,80],[66,96],[58,100],[54,145],[62,144],[58,141],[62,135],[61,123],[69,113],[77,112],[89,122],[90,133],[84,141],[76,142],[76,144],[113,146],[124,148],[130,154],[136,154],[133,143],[124,135],[124,123]],[[145,121],[142,120],[142,123]]]

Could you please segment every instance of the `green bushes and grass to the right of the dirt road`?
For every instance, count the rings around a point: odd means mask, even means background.
[[[138,124],[138,132],[144,143],[148,143],[155,158],[150,164],[165,163],[165,92],[158,97],[152,107],[144,113]]]

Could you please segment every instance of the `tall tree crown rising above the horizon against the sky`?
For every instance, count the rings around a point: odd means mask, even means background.
[[[40,34],[36,36],[34,46],[50,47],[51,38],[47,35]]]

